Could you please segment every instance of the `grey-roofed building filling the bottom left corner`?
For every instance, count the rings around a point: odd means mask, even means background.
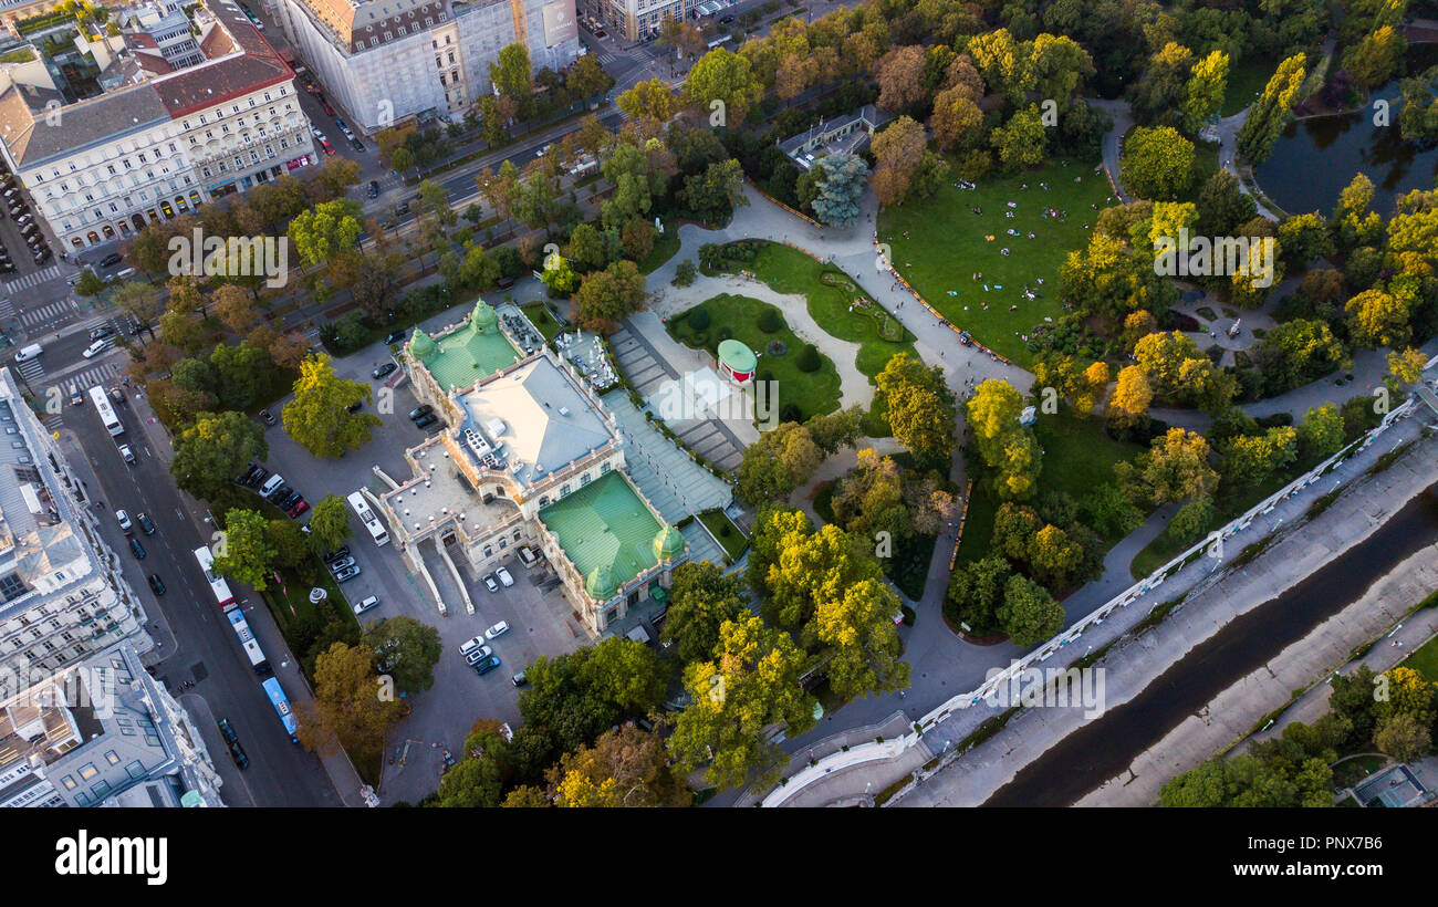
[[[221,783],[128,643],[0,697],[0,808],[223,806]]]

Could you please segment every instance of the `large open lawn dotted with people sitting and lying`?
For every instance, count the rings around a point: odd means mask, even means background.
[[[1074,183],[1076,177],[1081,181]],[[1050,190],[1038,188],[1040,183]],[[1021,190],[1022,184],[1028,188]],[[889,243],[893,266],[930,306],[985,346],[1027,367],[1032,354],[1021,335],[1043,325],[1045,316],[1057,321],[1063,313],[1058,270],[1070,252],[1087,247],[1110,191],[1109,180],[1096,175],[1093,164],[1078,161],[988,177],[974,191],[945,183],[932,198],[886,208],[879,217],[879,239]],[[1018,207],[1008,208],[1008,201]],[[974,207],[982,214],[975,216]],[[1045,208],[1068,216],[1044,217]],[[1014,217],[1004,216],[1009,210]],[[1018,236],[1008,236],[1009,229]],[[1035,239],[1030,240],[1030,233]],[[985,234],[994,241],[985,241]],[[1012,254],[1001,254],[1002,249]],[[984,279],[975,280],[975,273]],[[1024,299],[1025,283],[1041,298]],[[1011,312],[1014,305],[1018,309]]]

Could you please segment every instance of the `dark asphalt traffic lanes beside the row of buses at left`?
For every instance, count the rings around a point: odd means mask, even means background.
[[[175,637],[177,650],[155,666],[157,677],[165,677],[170,687],[178,691],[186,680],[193,678],[193,668],[203,666],[206,677],[196,684],[194,694],[203,696],[219,717],[229,717],[240,735],[240,742],[250,756],[246,788],[256,804],[339,805],[339,798],[319,759],[290,743],[279,716],[259,686],[259,678],[244,658],[230,622],[220,612],[204,574],[194,562],[194,549],[209,543],[210,539],[201,536],[186,517],[178,492],[171,484],[162,461],[142,454],[152,446],[135,424],[134,411],[129,407],[116,408],[127,427],[121,441],[131,443],[138,448],[137,454],[141,454],[137,466],[129,467],[119,457],[93,407],[76,408],[83,413],[75,417],[75,434],[99,482],[99,489],[92,490],[92,499],[102,502],[101,509],[105,510],[101,513],[101,532],[119,552],[121,569],[129,585],[147,601],[147,607],[158,607]],[[155,535],[137,536],[145,546],[145,561],[137,561],[129,552],[128,540],[115,520],[116,507],[127,509],[131,516],[144,509],[155,520]],[[150,565],[148,572],[161,574],[167,586],[165,595],[157,598],[150,594],[145,565]],[[246,608],[246,620],[260,647],[269,657],[275,658],[279,654],[283,658],[286,650],[279,644],[273,621],[267,618],[267,612],[256,615],[253,608]],[[290,683],[283,686],[289,696],[295,696],[296,690]],[[211,750],[210,758],[216,762],[229,759],[229,750]]]

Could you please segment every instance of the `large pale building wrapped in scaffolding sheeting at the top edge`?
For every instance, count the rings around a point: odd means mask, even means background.
[[[463,116],[493,91],[500,49],[535,72],[574,62],[574,0],[275,0],[295,52],[364,132],[410,115]]]

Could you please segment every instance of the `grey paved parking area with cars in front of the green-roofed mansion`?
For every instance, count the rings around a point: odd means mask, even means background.
[[[265,466],[280,473],[285,483],[301,492],[311,506],[326,494],[347,497],[362,484],[375,490],[387,487],[374,474],[374,466],[400,483],[410,477],[404,450],[418,444],[427,431],[416,428],[407,418],[407,413],[418,405],[408,381],[401,379],[393,391],[385,388],[400,372],[380,381],[370,377],[377,365],[388,361],[391,361],[388,348],[377,344],[334,362],[341,378],[361,381],[375,392],[375,401],[367,402],[364,411],[378,415],[383,424],[374,430],[371,441],[364,448],[349,451],[338,460],[319,460],[292,441],[279,424],[265,430],[270,448]],[[381,394],[381,390],[387,392]],[[286,402],[289,398],[270,408],[276,423]],[[377,407],[377,402],[381,405]],[[341,588],[349,602],[358,602],[370,595],[380,598],[378,607],[360,615],[361,622],[403,614],[436,627],[444,643],[444,653],[434,667],[434,686],[413,699],[411,714],[394,730],[385,752],[384,776],[378,791],[381,801],[385,805],[398,801],[414,804],[439,783],[446,749],[456,759],[462,758],[464,737],[476,719],[495,719],[518,726],[519,690],[510,683],[515,673],[541,654],[557,655],[572,651],[588,643],[588,637],[572,617],[564,594],[558,588],[549,592],[539,588],[545,579],[554,578],[542,559],[539,566],[526,569],[518,556],[512,558],[505,568],[515,585],[490,592],[482,578],[469,568],[463,555],[452,548],[450,558],[475,604],[475,614],[467,614],[463,598],[453,588],[453,575],[439,556],[434,543],[421,543],[418,553],[444,598],[446,617],[440,614],[424,579],[406,568],[394,543],[377,548],[358,519],[351,517],[349,525],[354,536],[348,545],[361,574]],[[502,664],[480,677],[464,663],[459,648],[466,640],[482,634],[498,621],[509,624],[509,632],[489,643]]]

